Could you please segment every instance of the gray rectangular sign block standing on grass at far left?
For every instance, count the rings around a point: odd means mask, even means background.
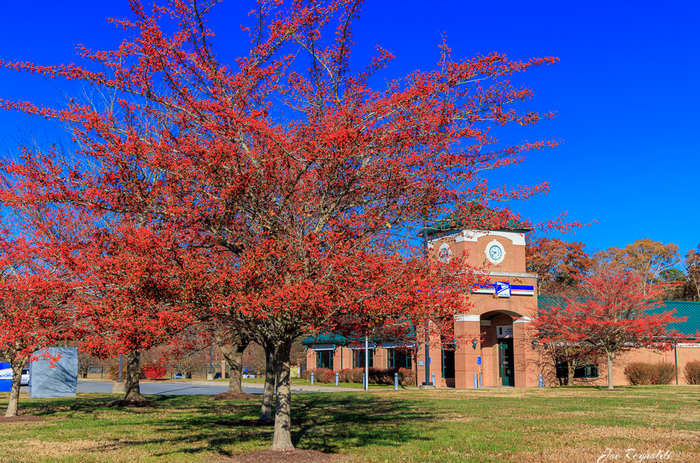
[[[37,357],[44,352],[34,352]],[[38,359],[29,363],[29,397],[76,397],[78,387],[78,348],[48,348],[49,355],[61,358],[51,367]]]

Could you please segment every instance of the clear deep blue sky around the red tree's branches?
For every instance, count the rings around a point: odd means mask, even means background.
[[[598,224],[575,235],[589,250],[648,237],[681,252],[700,241],[697,195],[700,154],[700,33],[694,2],[368,1],[355,26],[358,65],[382,45],[397,57],[383,77],[435,66],[441,33],[454,57],[503,52],[514,59],[561,59],[515,76],[531,87],[527,104],[557,111],[536,127],[501,133],[509,141],[561,139],[526,162],[489,176],[493,186],[548,181],[549,194],[513,204],[532,220],[568,211],[570,220]],[[216,6],[216,50],[230,60],[247,45],[238,24],[244,0]],[[76,61],[75,45],[118,45],[125,31],[106,17],[127,17],[126,1],[34,1],[3,5],[0,57],[37,64]],[[0,98],[44,104],[59,100],[61,83],[0,70]],[[0,112],[0,142],[29,132],[50,139],[41,120]],[[36,135],[35,135],[36,136]]]

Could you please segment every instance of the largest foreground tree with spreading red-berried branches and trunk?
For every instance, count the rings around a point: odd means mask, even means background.
[[[105,217],[138,215],[177,236],[181,262],[189,252],[210,252],[216,266],[225,264],[211,272],[213,265],[192,259],[200,268],[188,272],[225,288],[204,304],[211,316],[232,313],[274,348],[273,450],[293,448],[293,341],[304,332],[347,325],[366,332],[398,319],[449,331],[451,316],[467,309],[461,294],[475,277],[459,259],[427,262],[416,231],[474,202],[546,192],[546,184],[491,188],[484,172],[556,145],[504,146],[492,135],[505,124],[553,116],[517,111],[532,92],[510,78],[556,58],[458,60],[443,43],[435,69],[374,87],[393,55],[378,48],[364,69],[352,69],[361,3],[253,3],[250,51],[226,64],[207,28],[215,3],[173,0],[149,11],[132,0],[132,17],[113,20],[130,38],[108,52],[78,50],[97,64],[90,69],[104,72],[2,62],[78,80],[113,101],[74,99],[55,109],[1,100],[7,110],[65,124],[77,152],[28,147],[21,162],[5,160],[1,168],[15,181],[3,195]],[[163,26],[170,18],[174,33]],[[179,299],[197,306],[187,288]]]

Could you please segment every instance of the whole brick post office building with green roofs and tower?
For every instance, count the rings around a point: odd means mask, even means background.
[[[473,227],[473,221],[471,223]],[[487,227],[484,227],[487,228]],[[526,272],[525,233],[517,222],[509,221],[497,229],[463,229],[459,220],[437,222],[429,229],[428,252],[437,260],[464,256],[466,262],[483,272],[489,284],[470,288],[468,313],[454,317],[454,334],[461,339],[454,348],[444,348],[437,334],[429,336],[426,359],[424,332],[417,333],[419,343],[398,344],[370,342],[370,367],[404,367],[417,371],[418,383],[430,376],[438,387],[465,389],[474,387],[475,375],[483,387],[537,387],[540,373],[554,378],[554,372],[543,371],[528,323],[539,306],[552,304],[552,298],[538,295],[537,275]],[[666,309],[675,309],[676,316],[688,321],[675,327],[694,334],[700,328],[700,303],[669,301]],[[307,368],[333,370],[365,366],[364,343],[342,336],[310,337],[303,341],[307,349]],[[615,362],[615,384],[626,384],[624,366],[629,362],[668,362],[678,365],[678,383],[685,383],[682,369],[692,359],[700,359],[700,343],[683,343],[671,351],[638,349],[618,357]],[[552,367],[553,368],[553,367]],[[552,374],[547,374],[552,373]],[[590,383],[605,383],[606,362],[582,368],[577,377]],[[552,383],[552,379],[548,380]]]

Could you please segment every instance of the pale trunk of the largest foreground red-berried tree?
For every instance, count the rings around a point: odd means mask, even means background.
[[[292,394],[289,385],[291,341],[283,341],[274,350],[277,380],[277,401],[274,408],[274,435],[270,450],[294,450],[292,443]]]

